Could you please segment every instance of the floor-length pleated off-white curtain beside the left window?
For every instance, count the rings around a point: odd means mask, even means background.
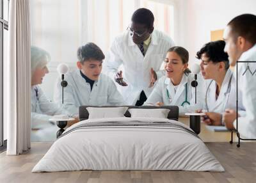
[[[29,0],[10,1],[8,62],[4,72],[7,107],[7,152],[21,154],[30,148],[30,9]]]

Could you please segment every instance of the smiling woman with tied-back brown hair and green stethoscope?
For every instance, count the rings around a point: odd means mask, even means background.
[[[195,112],[204,104],[204,81],[198,76],[198,86],[191,86],[194,75],[188,69],[189,53],[183,47],[171,47],[164,60],[166,76],[161,77],[145,105],[179,106],[179,113]]]

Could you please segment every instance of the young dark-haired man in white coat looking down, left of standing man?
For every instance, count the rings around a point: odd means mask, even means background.
[[[65,75],[67,86],[64,88],[63,107],[73,115],[77,115],[79,106],[125,105],[122,95],[115,83],[101,73],[102,60],[105,56],[101,49],[88,43],[77,51],[77,68]],[[56,82],[54,100],[62,104],[61,79]]]

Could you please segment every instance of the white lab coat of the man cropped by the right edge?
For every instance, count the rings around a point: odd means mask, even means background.
[[[244,52],[239,61],[256,61],[256,44]],[[252,75],[245,72],[247,63],[238,64],[238,88],[241,88],[245,115],[238,118],[238,131],[244,138],[256,138],[256,63],[249,63]],[[244,74],[245,72],[245,74]],[[236,72],[235,72],[236,73]],[[244,74],[244,76],[243,76]],[[236,121],[234,122],[236,127]]]

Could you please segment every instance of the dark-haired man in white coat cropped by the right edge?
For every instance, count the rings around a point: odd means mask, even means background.
[[[238,87],[241,88],[245,115],[238,118],[238,131],[245,138],[256,138],[256,16],[243,14],[232,19],[224,31],[225,51],[230,65],[238,64]],[[228,129],[236,128],[236,110],[227,109],[223,120]]]

